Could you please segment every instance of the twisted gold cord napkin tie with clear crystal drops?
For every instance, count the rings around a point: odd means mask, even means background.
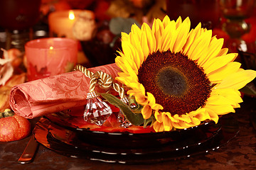
[[[127,105],[129,104],[127,96],[125,96],[124,88],[119,86],[119,84],[114,83],[114,79],[109,74],[102,71],[97,71],[95,73],[90,72],[89,69],[86,69],[80,64],[76,65],[74,70],[80,71],[85,74],[86,77],[90,78],[90,88],[89,92],[87,93],[87,104],[85,106],[84,113],[85,121],[101,126],[103,123],[105,123],[107,118],[112,115],[110,106],[108,106],[105,101],[102,101],[99,95],[95,92],[95,87],[97,84],[101,89],[107,91],[106,93],[109,93],[111,88],[114,89],[118,92],[121,101]],[[129,121],[124,117],[121,110],[117,115],[117,121],[123,128],[127,128],[132,125],[132,123],[129,123]]]

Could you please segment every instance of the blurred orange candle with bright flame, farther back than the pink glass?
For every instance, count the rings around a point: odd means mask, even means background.
[[[82,10],[55,11],[48,17],[50,37],[72,38],[73,25]]]

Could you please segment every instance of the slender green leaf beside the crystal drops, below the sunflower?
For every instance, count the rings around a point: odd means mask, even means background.
[[[144,118],[140,113],[132,112],[131,108],[123,103],[119,98],[112,94],[100,94],[103,98],[105,98],[109,103],[114,106],[117,106],[123,113],[125,118],[129,120],[132,125],[142,125],[144,123]]]

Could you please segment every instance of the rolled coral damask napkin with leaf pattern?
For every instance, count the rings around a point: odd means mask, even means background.
[[[113,78],[117,77],[119,72],[116,64],[93,67],[89,70],[93,73],[102,71]],[[36,118],[85,105],[89,87],[90,78],[80,71],[28,81],[11,89],[10,106],[17,115]],[[97,88],[96,91],[102,92],[102,89]]]

